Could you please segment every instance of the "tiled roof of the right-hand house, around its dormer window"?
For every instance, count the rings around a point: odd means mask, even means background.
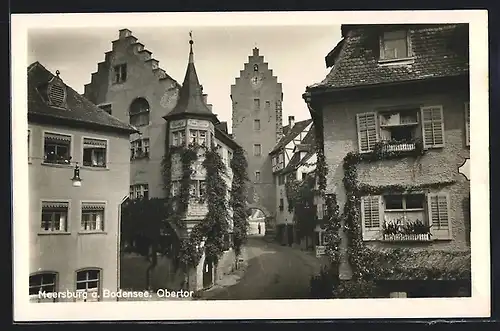
[[[466,24],[407,27],[415,55],[413,63],[380,65],[379,35],[387,26],[357,26],[348,31],[344,31],[345,27],[342,26],[345,38],[325,59],[327,66],[333,65],[332,70],[321,83],[309,86],[308,90],[359,87],[468,74]]]

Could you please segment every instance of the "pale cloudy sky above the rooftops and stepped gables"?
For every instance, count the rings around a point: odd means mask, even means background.
[[[325,56],[340,41],[340,25],[297,26],[176,26],[33,29],[28,33],[28,64],[39,61],[79,93],[90,82],[97,63],[128,28],[150,50],[152,57],[182,84],[193,33],[194,60],[203,91],[221,121],[231,127],[231,85],[254,47],[283,86],[283,121],[310,117],[302,99],[307,85],[320,82],[330,69]]]

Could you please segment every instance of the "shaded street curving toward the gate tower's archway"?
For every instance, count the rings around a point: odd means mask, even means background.
[[[247,266],[241,278],[221,282],[201,300],[307,299],[309,281],[321,261],[298,248],[250,237],[244,248]]]

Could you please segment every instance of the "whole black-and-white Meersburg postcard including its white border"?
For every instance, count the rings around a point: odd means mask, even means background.
[[[14,318],[489,316],[487,17],[12,15]]]

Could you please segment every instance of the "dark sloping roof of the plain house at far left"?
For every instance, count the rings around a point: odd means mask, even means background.
[[[67,123],[98,126],[129,133],[137,132],[133,126],[111,116],[66,84],[64,85],[66,86],[67,108],[50,106],[43,97],[42,87],[47,86],[54,77],[54,74],[38,61],[28,67],[28,115],[30,120],[33,120],[33,115],[35,115],[65,120]]]

